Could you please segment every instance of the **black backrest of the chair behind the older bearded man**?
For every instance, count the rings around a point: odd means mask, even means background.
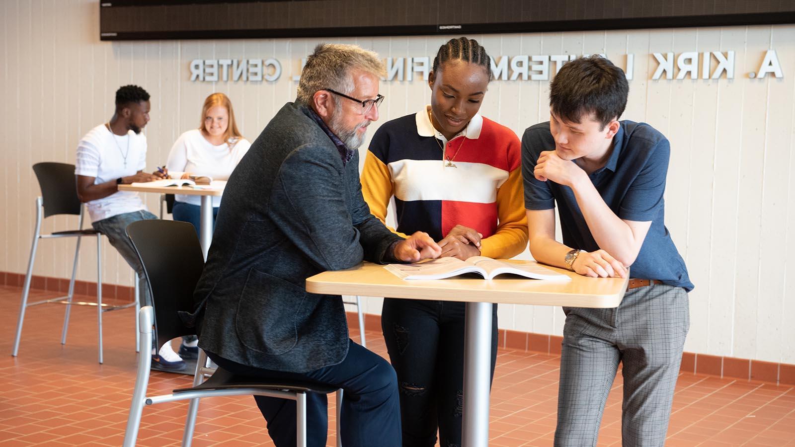
[[[191,223],[174,220],[138,220],[127,226],[144,266],[154,307],[157,348],[160,341],[196,334],[177,315],[193,312],[193,290],[204,269],[199,238]],[[149,303],[147,303],[149,304]]]

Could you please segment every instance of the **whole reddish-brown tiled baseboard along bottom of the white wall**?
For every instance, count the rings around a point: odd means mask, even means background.
[[[0,285],[21,287],[23,282],[25,282],[24,274],[0,272]],[[69,288],[69,280],[33,275],[30,287],[31,289],[66,293]],[[96,287],[96,282],[76,281],[75,293],[88,296],[96,295]],[[103,299],[134,300],[134,288],[130,286],[103,283],[102,293]],[[358,330],[359,320],[356,314],[347,313],[347,319],[351,330]],[[364,325],[366,328],[377,330],[381,327],[381,316],[366,313]],[[560,354],[560,342],[563,340],[561,336],[519,332],[509,329],[499,329],[498,334],[498,345],[502,348],[553,355]],[[684,352],[681,371],[743,380],[761,380],[762,382],[780,383],[781,385],[795,385],[795,365],[788,363],[762,362],[760,360],[735,359],[734,357]]]

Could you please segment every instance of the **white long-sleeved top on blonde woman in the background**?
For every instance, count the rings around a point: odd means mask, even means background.
[[[169,175],[175,178],[184,173],[194,173],[212,177],[212,180],[229,180],[235,166],[250,147],[251,143],[246,138],[240,138],[231,150],[227,143],[214,146],[204,138],[201,130],[188,130],[180,138],[176,138],[165,166],[169,169]],[[174,200],[186,204],[201,204],[200,196],[176,194]],[[217,207],[220,204],[221,197],[213,196],[212,206]]]

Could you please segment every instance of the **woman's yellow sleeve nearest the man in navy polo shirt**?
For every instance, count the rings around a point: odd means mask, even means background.
[[[522,168],[518,167],[497,190],[497,231],[480,241],[481,256],[507,259],[525,251],[528,238],[524,200]]]

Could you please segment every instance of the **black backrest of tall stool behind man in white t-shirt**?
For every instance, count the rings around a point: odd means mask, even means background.
[[[39,181],[45,217],[56,214],[80,214],[83,204],[77,197],[75,165],[45,161],[33,165]]]

